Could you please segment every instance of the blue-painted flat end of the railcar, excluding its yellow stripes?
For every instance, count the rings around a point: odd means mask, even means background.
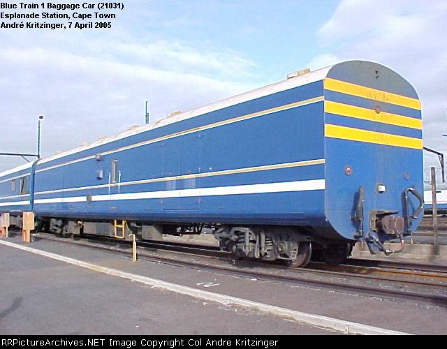
[[[375,77],[376,71],[379,71],[381,78],[377,79]],[[362,61],[346,62],[332,68],[328,77],[418,99],[418,95],[411,84],[393,70],[379,64]],[[369,110],[374,110],[376,106],[379,106],[381,112],[421,119],[420,110],[399,107],[369,98],[335,94],[332,91],[325,91],[325,101],[365,107]],[[329,113],[325,114],[325,123],[422,138],[422,131],[420,130]],[[353,193],[356,193],[360,186],[365,190],[364,232],[369,231],[368,213],[370,211],[397,211],[402,215],[402,211],[404,211],[402,194],[405,189],[416,188],[419,193],[423,193],[422,149],[391,147],[383,144],[332,138],[326,138],[325,147],[325,215],[332,227],[348,239],[352,239],[356,232],[356,222],[349,221],[347,218],[353,217],[355,214]],[[346,175],[344,172],[346,166],[352,168],[353,173],[351,175]],[[378,192],[379,184],[386,186],[385,193]],[[416,211],[419,204],[418,200],[416,198],[410,198],[410,200],[412,212]],[[418,219],[413,220],[413,230],[416,230],[420,219],[422,219],[422,214]],[[382,236],[381,239],[386,240],[386,236]]]

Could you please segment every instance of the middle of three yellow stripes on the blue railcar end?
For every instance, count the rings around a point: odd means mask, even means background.
[[[422,120],[403,115],[391,114],[388,112],[376,112],[376,110],[356,107],[338,102],[325,101],[324,110],[330,114],[342,115],[343,117],[353,117],[367,121],[375,121],[381,124],[402,126],[422,130]]]

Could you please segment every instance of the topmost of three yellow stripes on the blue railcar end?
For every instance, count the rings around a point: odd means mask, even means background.
[[[351,96],[368,98],[374,101],[400,105],[401,107],[421,110],[420,101],[416,98],[392,94],[390,92],[372,89],[370,87],[365,87],[358,84],[352,84],[351,82],[331,79],[330,77],[325,78],[324,89],[340,92],[342,94],[349,94]]]

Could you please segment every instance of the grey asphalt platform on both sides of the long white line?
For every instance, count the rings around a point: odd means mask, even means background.
[[[18,239],[10,239],[18,242]],[[447,333],[447,309],[174,267],[41,240],[98,266],[412,334]],[[0,245],[0,334],[330,334],[265,313],[203,302]]]

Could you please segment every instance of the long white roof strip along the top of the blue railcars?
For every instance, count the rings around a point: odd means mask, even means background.
[[[99,147],[103,144],[114,142],[115,140],[120,140],[122,138],[130,137],[131,135],[136,135],[138,133],[149,131],[154,128],[159,128],[159,127],[166,126],[169,124],[174,124],[175,122],[182,121],[185,119],[191,119],[193,117],[198,117],[200,115],[207,114],[209,112],[214,112],[215,110],[223,109],[225,107],[230,107],[232,105],[237,105],[240,103],[251,101],[256,98],[268,96],[270,94],[276,94],[277,92],[286,91],[288,89],[293,89],[295,87],[300,87],[300,86],[303,86],[306,84],[311,84],[312,82],[316,82],[316,81],[325,79],[325,77],[329,73],[329,70],[332,67],[333,66],[328,66],[326,68],[314,70],[314,71],[307,73],[305,75],[292,77],[287,80],[281,80],[280,82],[275,82],[274,84],[270,84],[268,86],[261,87],[259,89],[254,89],[253,91],[245,92],[244,94],[226,98],[226,99],[223,99],[222,101],[211,103],[211,104],[205,105],[203,107],[198,107],[196,109],[190,110],[189,112],[183,112],[183,113],[175,115],[173,117],[166,117],[166,118],[160,119],[158,121],[154,121],[151,124],[148,124],[145,126],[132,128],[131,130],[125,131],[124,133],[120,133],[119,135],[115,135],[115,136],[108,137],[108,138],[101,138],[100,140],[97,140],[96,142],[92,142],[88,145],[81,146],[81,147],[71,149],[68,151],[63,151],[61,153],[54,154],[53,156],[50,156],[48,158],[42,158],[41,161],[39,161],[39,163],[47,163],[49,161],[53,161],[58,158],[64,158],[65,156],[68,156],[71,154],[76,154],[80,151],[84,151],[87,149],[93,149],[93,148]],[[32,165],[31,163],[28,163],[28,164],[19,166],[17,168],[13,168],[12,170],[7,170],[5,172],[1,172],[0,177],[18,172],[20,170],[24,170],[26,168],[31,168],[31,165]]]

